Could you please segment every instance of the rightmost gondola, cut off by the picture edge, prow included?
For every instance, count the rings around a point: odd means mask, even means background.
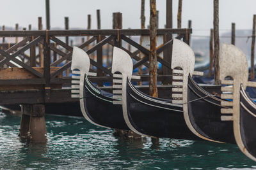
[[[233,122],[234,136],[240,150],[250,159],[256,161],[256,104],[245,92],[247,86],[256,87],[256,83],[248,81],[248,63],[246,56],[234,45],[223,44],[220,57],[221,97],[232,99],[221,110],[228,114],[226,119]],[[230,64],[232,63],[232,64]],[[227,67],[228,66],[228,67]],[[231,80],[227,80],[231,77]]]

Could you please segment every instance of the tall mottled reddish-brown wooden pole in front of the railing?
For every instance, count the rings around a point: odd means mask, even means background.
[[[150,0],[149,94],[153,97],[157,97],[156,24],[156,0]]]

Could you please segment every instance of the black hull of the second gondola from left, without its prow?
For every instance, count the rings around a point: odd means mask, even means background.
[[[127,115],[136,131],[157,138],[202,140],[189,131],[182,106],[157,103],[151,100],[156,99],[154,97],[145,99],[134,89],[131,82],[127,83]]]

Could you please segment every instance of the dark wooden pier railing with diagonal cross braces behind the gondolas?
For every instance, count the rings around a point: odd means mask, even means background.
[[[189,42],[189,34],[191,29],[157,29],[157,36],[168,36],[172,35],[176,38],[182,39],[184,42]],[[63,76],[58,78],[57,76],[63,74],[65,71],[70,69],[72,59],[72,46],[68,45],[61,39],[67,36],[74,37],[88,37],[87,41],[76,44],[79,48],[83,48],[89,55],[97,52],[97,61],[91,57],[90,61],[92,64],[93,72],[97,73],[97,76],[92,78],[92,81],[100,82],[110,81],[109,76],[112,75],[111,67],[104,67],[102,65],[102,46],[109,44],[111,46],[118,46],[126,52],[128,52],[134,62],[133,69],[144,65],[148,67],[148,55],[150,51],[136,43],[136,41],[129,38],[129,36],[149,36],[148,29],[111,29],[111,30],[69,30],[69,31],[0,31],[0,37],[21,37],[23,38],[18,43],[6,43],[0,45],[0,68],[4,67],[17,67],[17,64],[29,73],[33,74],[35,78],[24,79],[24,80],[0,80],[0,85],[44,85],[45,95],[47,90],[51,89],[51,84],[70,84],[70,78]],[[132,52],[129,51],[122,45],[125,41],[129,45],[136,48]],[[94,45],[93,45],[94,43]],[[157,47],[157,55],[164,50],[170,48],[172,41],[167,39],[165,43]],[[44,55],[40,59],[40,46],[43,47]],[[29,52],[29,54],[28,54]],[[36,54],[37,53],[37,54]],[[42,53],[42,52],[41,52]],[[143,53],[144,57],[141,59],[139,53]],[[58,55],[58,59],[56,57]],[[20,57],[21,60],[17,59]],[[171,57],[171,53],[168,53],[168,57]],[[12,62],[11,62],[12,61]],[[170,62],[157,56],[157,61],[162,66],[170,69]],[[36,71],[35,67],[44,66],[44,73]],[[50,67],[59,66],[56,71],[51,72]],[[159,70],[159,73],[163,74],[163,71]],[[64,74],[63,74],[64,75]],[[163,75],[163,78],[166,75]],[[159,76],[161,80],[161,76]],[[147,81],[147,77],[143,78]]]

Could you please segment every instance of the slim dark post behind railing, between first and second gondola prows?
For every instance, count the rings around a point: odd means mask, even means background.
[[[100,10],[97,10],[97,29],[101,29],[101,25],[100,25]],[[102,39],[102,36],[99,35],[97,38],[97,43],[99,43]],[[102,63],[102,46],[100,46],[99,48],[97,48],[97,63],[100,64],[100,66],[103,65]],[[103,76],[103,71],[97,68],[97,76]],[[98,83],[99,86],[103,86],[103,83]]]

